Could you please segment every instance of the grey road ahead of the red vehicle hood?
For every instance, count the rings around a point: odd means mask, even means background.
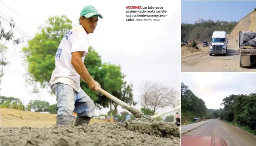
[[[183,135],[221,137],[228,146],[256,146],[256,136],[219,119],[214,119]]]

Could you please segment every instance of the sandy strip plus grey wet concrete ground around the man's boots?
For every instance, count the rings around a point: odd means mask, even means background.
[[[91,119],[86,126],[57,126],[56,114],[1,108],[1,146],[180,146],[179,137],[126,130],[120,122]]]

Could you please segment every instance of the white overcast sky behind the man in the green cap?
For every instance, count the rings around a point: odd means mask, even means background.
[[[98,22],[93,34],[89,34],[91,45],[101,55],[102,62],[120,64],[126,80],[134,85],[134,99],[140,109],[140,86],[143,81],[158,82],[162,85],[180,90],[180,1],[167,4],[165,0],[158,1],[92,1],[76,0],[75,3],[63,0],[2,0],[0,3],[1,15],[14,18],[16,27],[26,32],[30,39],[37,31],[37,27],[44,25],[48,16],[67,15],[73,26],[77,24],[80,10],[89,4],[95,6],[104,17]],[[25,4],[29,3],[29,4]],[[22,6],[22,7],[21,7]],[[161,21],[128,22],[125,21],[126,6],[163,6],[168,12]],[[27,21],[28,20],[28,21]],[[4,25],[8,28],[8,25]],[[22,36],[14,31],[15,37]],[[27,38],[25,37],[27,40]],[[12,46],[6,54],[11,64],[4,68],[5,76],[2,79],[1,95],[20,98],[25,105],[29,100],[41,99],[50,104],[56,103],[56,98],[47,93],[49,88],[41,90],[41,96],[29,94],[31,87],[26,87],[25,77],[27,70],[23,63],[21,51],[26,42]],[[57,48],[56,48],[57,49]],[[16,51],[15,51],[16,50]],[[170,110],[166,107],[163,111]],[[122,108],[119,107],[119,112]],[[97,110],[96,115],[107,113],[108,109]],[[162,109],[157,111],[162,112]]]

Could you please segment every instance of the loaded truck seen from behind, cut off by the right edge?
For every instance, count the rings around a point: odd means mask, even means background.
[[[239,31],[238,54],[240,67],[249,67],[256,63],[256,32]]]

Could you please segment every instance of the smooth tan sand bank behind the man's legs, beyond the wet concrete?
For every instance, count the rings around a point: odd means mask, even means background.
[[[27,112],[15,109],[1,108],[1,127],[51,127],[56,124],[56,114]],[[90,124],[93,123],[109,123],[108,121],[101,121],[99,119],[91,119]]]

